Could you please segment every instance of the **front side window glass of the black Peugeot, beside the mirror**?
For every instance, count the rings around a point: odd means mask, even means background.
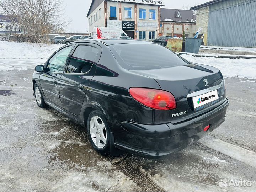
[[[47,71],[61,73],[63,71],[64,64],[69,56],[72,46],[65,47],[59,50],[52,58],[50,58],[47,64]]]

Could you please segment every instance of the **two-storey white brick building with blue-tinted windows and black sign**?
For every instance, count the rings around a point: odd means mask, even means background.
[[[120,28],[134,39],[151,41],[159,36],[162,0],[92,0],[87,17],[94,27]]]

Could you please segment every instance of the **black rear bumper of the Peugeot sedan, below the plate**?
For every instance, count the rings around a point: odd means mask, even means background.
[[[212,132],[225,121],[229,100],[213,110],[177,124],[143,125],[122,122],[121,131],[114,133],[115,146],[147,158],[160,158],[180,151]],[[119,124],[120,125],[120,124]],[[203,131],[210,125],[210,129]]]

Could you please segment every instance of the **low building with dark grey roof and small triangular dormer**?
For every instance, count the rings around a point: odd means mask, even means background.
[[[160,35],[193,37],[196,28],[196,14],[191,10],[160,8]]]

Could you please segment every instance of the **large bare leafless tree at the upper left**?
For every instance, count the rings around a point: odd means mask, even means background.
[[[64,31],[70,22],[62,5],[62,0],[0,0],[0,11],[25,34],[45,42],[46,34]]]

